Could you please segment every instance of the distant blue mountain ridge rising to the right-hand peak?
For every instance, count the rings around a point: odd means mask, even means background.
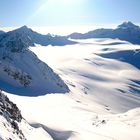
[[[73,33],[68,37],[72,39],[88,39],[88,38],[118,38],[120,40],[129,41],[133,44],[140,44],[140,27],[132,22],[124,22],[116,29],[96,29],[85,34]]]

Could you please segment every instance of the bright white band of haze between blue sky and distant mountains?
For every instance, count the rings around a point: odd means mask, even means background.
[[[121,22],[123,23],[123,22]],[[134,23],[140,26],[140,23]],[[36,31],[41,34],[57,34],[57,35],[68,35],[73,32],[85,33],[91,30],[100,29],[100,28],[108,28],[108,29],[115,29],[117,28],[118,23],[112,24],[93,24],[93,25],[65,25],[65,26],[30,26],[26,25],[28,28],[31,28],[33,31]],[[25,25],[23,25],[25,26]],[[15,29],[18,29],[22,26],[2,26],[0,30],[4,32],[9,32]]]

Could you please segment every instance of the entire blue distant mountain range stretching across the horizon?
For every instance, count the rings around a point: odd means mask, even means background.
[[[16,30],[10,32],[0,31],[0,42],[6,36],[13,35],[20,36],[22,40],[24,39],[29,44],[40,44],[42,46],[64,46],[64,45],[72,45],[76,44],[76,41],[71,41],[71,39],[90,39],[90,38],[118,38],[120,40],[128,41],[133,44],[140,44],[140,27],[133,24],[132,22],[123,22],[118,25],[116,29],[96,29],[93,31],[89,31],[87,33],[72,33],[68,36],[60,36],[60,35],[42,35],[28,28],[27,26],[23,26]]]

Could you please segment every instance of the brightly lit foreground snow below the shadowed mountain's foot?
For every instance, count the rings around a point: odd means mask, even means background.
[[[79,101],[76,96],[72,99],[66,94],[34,98],[8,96],[18,103],[34,128],[44,129],[54,140],[140,139],[140,108],[112,114],[109,107],[84,97]],[[114,104],[122,106],[115,100]]]

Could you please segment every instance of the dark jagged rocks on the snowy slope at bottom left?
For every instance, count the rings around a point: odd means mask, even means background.
[[[26,140],[22,130],[19,128],[22,115],[16,104],[11,102],[7,96],[0,91],[0,116],[4,117],[7,123],[3,122],[3,125],[9,133],[16,135],[19,139]],[[11,132],[12,131],[12,132]],[[9,138],[11,139],[11,138]]]

